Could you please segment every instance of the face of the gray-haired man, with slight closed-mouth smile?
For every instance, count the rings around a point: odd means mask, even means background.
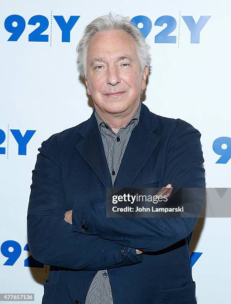
[[[146,88],[135,40],[124,31],[96,33],[87,48],[87,94],[103,113],[132,111]]]

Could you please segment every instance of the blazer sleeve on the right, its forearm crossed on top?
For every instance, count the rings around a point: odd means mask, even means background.
[[[200,132],[189,123],[175,120],[166,144],[162,186],[171,183],[173,188],[203,188],[202,195],[195,192],[191,198],[201,211],[205,199],[205,169],[200,137]],[[80,210],[79,217],[73,220],[73,229],[80,231],[84,222],[88,230],[83,233],[94,233],[145,251],[157,251],[187,237],[197,220],[198,217],[106,218],[106,204],[96,198]]]

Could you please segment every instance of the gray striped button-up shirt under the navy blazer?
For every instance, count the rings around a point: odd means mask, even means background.
[[[139,122],[140,111],[141,101],[132,119],[124,127],[120,128],[118,133],[114,132],[95,111],[95,118],[101,134],[113,186],[129,138]],[[107,270],[99,270],[94,276],[86,295],[85,304],[113,304]]]

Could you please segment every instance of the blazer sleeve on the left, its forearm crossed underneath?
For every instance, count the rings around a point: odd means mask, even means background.
[[[64,220],[65,193],[55,134],[42,143],[27,211],[28,246],[39,262],[70,269],[103,270],[140,263],[136,249],[97,235],[74,232]]]

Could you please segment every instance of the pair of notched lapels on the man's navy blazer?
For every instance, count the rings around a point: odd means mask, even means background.
[[[112,188],[111,175],[94,111],[95,109],[89,120],[79,130],[83,139],[76,145],[76,149],[104,187]],[[129,188],[153,153],[160,140],[160,137],[154,134],[157,127],[154,115],[142,103],[139,123],[130,136],[114,182],[114,188]]]

